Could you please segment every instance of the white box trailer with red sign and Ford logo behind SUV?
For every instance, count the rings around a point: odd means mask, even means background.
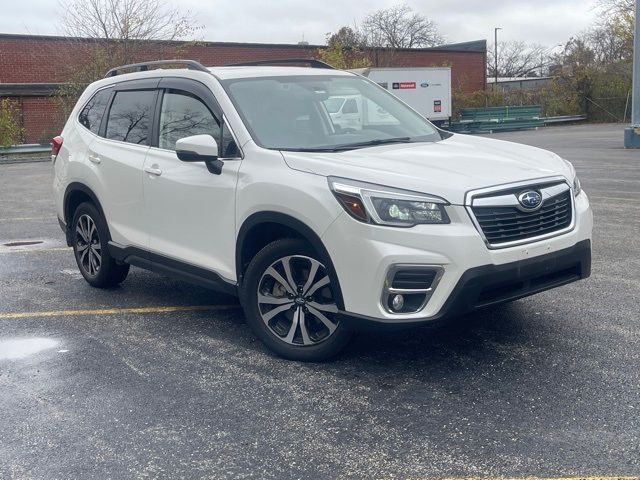
[[[436,125],[451,118],[451,68],[359,68],[351,70],[386,88]]]

